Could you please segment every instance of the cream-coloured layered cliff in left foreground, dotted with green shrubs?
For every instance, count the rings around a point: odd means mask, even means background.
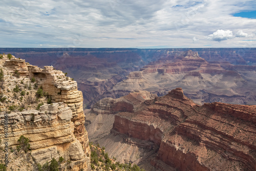
[[[2,55],[0,66],[0,136],[7,138],[8,168],[36,170],[38,164],[63,158],[60,170],[91,170],[83,96],[76,81],[53,67],[41,69],[9,55]],[[27,154],[16,151],[20,136],[29,140]]]

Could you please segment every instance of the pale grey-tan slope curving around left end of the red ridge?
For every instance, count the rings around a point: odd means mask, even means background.
[[[137,142],[118,132],[111,133],[111,129],[118,112],[138,111],[145,100],[155,97],[156,95],[150,92],[134,91],[118,99],[105,98],[98,101],[92,110],[86,113],[86,129],[90,141],[104,146],[109,156],[116,157],[119,162],[138,164],[143,161],[146,163],[146,167],[143,165],[143,168],[152,168],[148,162],[145,162],[145,159],[154,154],[151,149],[145,148],[154,145],[152,142]]]

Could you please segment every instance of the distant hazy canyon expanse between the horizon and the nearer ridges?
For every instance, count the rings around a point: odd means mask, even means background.
[[[198,53],[204,61],[193,66],[196,60],[178,57],[185,57],[188,50]],[[255,95],[251,94],[255,92],[255,48],[0,48],[0,52],[26,59],[32,65],[53,66],[67,72],[77,81],[84,108],[88,109],[102,98],[119,98],[136,89],[164,95],[176,87],[183,88],[198,104],[255,104]],[[180,65],[179,60],[188,62],[187,66]],[[173,64],[163,65],[168,62]],[[194,70],[189,69],[189,63]],[[172,67],[181,70],[170,73],[167,69]],[[134,71],[142,72],[131,73]],[[128,88],[124,87],[126,84]]]

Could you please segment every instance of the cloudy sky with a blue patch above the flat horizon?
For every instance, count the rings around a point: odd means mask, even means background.
[[[253,48],[256,1],[1,0],[0,48]]]

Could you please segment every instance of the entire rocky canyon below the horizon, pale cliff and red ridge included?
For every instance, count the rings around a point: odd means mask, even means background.
[[[146,170],[256,169],[254,48],[0,50],[52,65],[1,59],[2,123],[7,107],[27,106],[9,114],[10,146],[26,135],[36,163],[63,156],[61,168],[90,170],[90,139]],[[47,95],[12,98],[30,83]]]

